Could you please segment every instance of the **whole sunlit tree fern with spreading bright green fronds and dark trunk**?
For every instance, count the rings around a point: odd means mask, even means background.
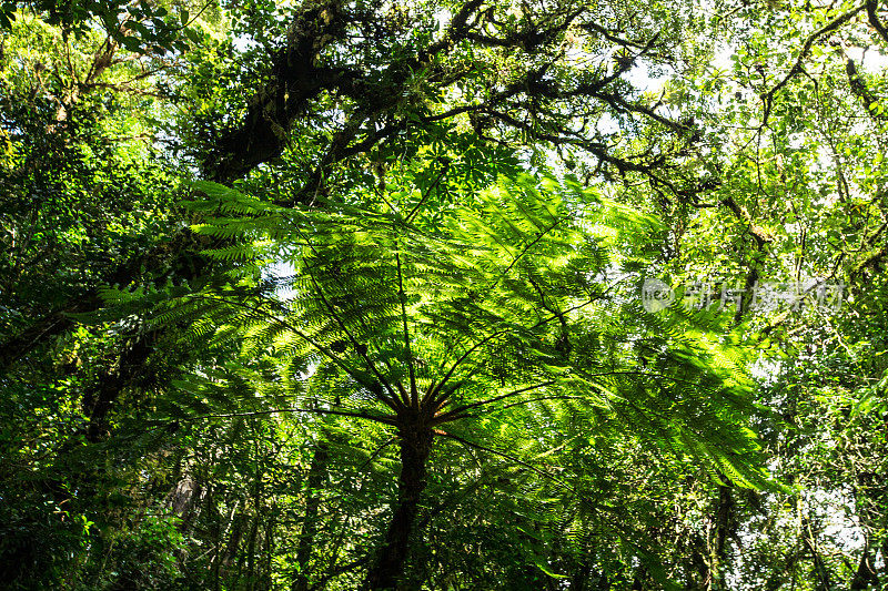
[[[195,188],[205,198],[189,204],[204,216],[194,231],[229,241],[206,254],[239,267],[199,288],[105,296],[121,309],[141,303],[154,325],[181,325],[185,344],[240,350],[242,369],[179,384],[192,396],[182,417],[279,410],[396,430],[400,491],[371,587],[404,572],[436,439],[517,462],[593,506],[569,475],[546,468],[572,438],[594,447],[587,434],[630,432],[739,486],[766,483],[744,426],[743,356],[705,330],[715,320],[642,312],[650,218],[569,179],[503,177],[434,224],[417,215],[422,198],[398,208],[393,195],[387,211],[285,210],[213,183]],[[292,274],[263,279],[272,263]],[[262,359],[283,378],[269,383]],[[552,511],[543,502],[538,513]]]

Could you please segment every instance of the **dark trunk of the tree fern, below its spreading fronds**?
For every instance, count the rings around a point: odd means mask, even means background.
[[[410,536],[420,497],[426,485],[426,461],[432,451],[432,429],[425,425],[401,427],[401,477],[392,521],[376,563],[370,569],[367,589],[394,589],[406,568]]]

